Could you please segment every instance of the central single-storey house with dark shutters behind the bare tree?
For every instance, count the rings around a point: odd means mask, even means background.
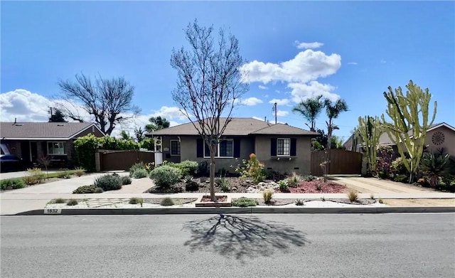
[[[220,119],[223,126],[226,118]],[[210,162],[210,151],[191,122],[151,134],[161,137],[163,159]],[[287,124],[269,124],[252,118],[232,118],[216,151],[216,170],[231,173],[235,166],[255,153],[265,168],[281,173],[310,173],[311,138],[319,134]]]

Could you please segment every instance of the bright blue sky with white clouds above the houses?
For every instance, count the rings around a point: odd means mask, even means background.
[[[454,1],[1,1],[1,120],[45,120],[59,79],[99,73],[136,87],[143,115],[117,132],[151,115],[186,122],[169,61],[198,18],[229,28],[253,69],[237,117],[272,120],[275,99],[279,122],[306,128],[291,108],[322,92],[348,103],[335,120],[347,139],[359,116],[385,112],[388,86],[412,79],[437,100],[435,122],[455,126],[454,14]]]

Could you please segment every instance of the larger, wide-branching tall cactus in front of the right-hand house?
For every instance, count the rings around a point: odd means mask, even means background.
[[[422,91],[412,80],[406,85],[406,88],[406,95],[403,95],[401,87],[395,89],[395,93],[392,87],[388,87],[389,92],[384,92],[387,100],[385,112],[392,122],[386,122],[384,114],[381,119],[385,131],[397,145],[402,161],[407,171],[410,172],[409,181],[412,183],[420,159],[422,159],[427,129],[433,124],[434,117],[436,117],[437,102],[434,102],[432,119],[429,121],[429,102],[432,94],[429,93],[428,88]],[[410,157],[409,160],[405,156],[405,152]]]

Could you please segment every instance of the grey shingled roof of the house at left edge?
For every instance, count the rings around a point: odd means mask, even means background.
[[[0,122],[0,138],[68,140],[90,127],[98,129],[92,122]]]

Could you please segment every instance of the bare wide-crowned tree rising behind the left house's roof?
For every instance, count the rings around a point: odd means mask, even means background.
[[[75,79],[75,82],[70,80],[58,82],[63,100],[70,104],[80,104],[95,118],[95,122],[105,134],[110,135],[116,124],[139,114],[139,107],[132,105],[134,86],[124,77],[105,79],[99,76],[92,82],[90,77],[81,74],[76,75]],[[67,117],[83,122],[77,112],[68,109],[62,103],[60,107]]]

